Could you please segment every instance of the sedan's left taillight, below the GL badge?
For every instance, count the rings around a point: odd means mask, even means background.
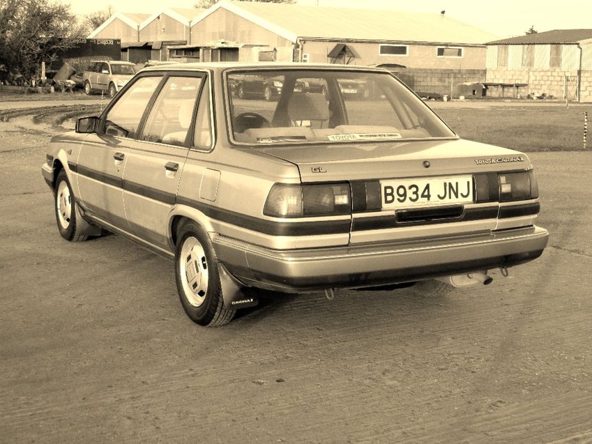
[[[288,185],[276,183],[265,201],[264,215],[303,217],[351,213],[351,190],[347,183]]]

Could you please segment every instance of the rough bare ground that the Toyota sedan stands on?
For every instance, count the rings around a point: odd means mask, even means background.
[[[0,122],[2,441],[592,442],[592,153],[531,154],[552,237],[508,278],[267,298],[208,329],[171,262],[60,238],[47,132]]]

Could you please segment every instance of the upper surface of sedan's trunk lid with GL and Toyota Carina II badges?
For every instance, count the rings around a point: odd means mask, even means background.
[[[278,146],[260,151],[298,166],[303,183],[531,169],[517,151],[462,139]]]

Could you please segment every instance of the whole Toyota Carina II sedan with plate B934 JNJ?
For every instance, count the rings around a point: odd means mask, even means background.
[[[246,76],[281,91],[241,98]],[[54,137],[42,171],[63,238],[103,228],[174,258],[183,308],[203,326],[257,304],[253,287],[487,284],[548,238],[529,158],[459,139],[380,68],[146,68]]]

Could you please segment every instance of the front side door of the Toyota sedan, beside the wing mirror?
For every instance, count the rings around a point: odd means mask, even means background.
[[[123,210],[123,170],[130,146],[162,75],[140,77],[106,110],[96,133],[86,137],[77,165],[79,196],[86,210],[128,231]]]

